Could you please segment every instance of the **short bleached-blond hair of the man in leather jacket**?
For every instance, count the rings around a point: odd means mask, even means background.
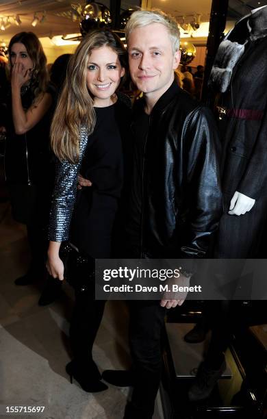
[[[133,12],[125,27],[126,43],[128,44],[129,36],[133,29],[151,25],[151,23],[161,23],[166,27],[170,35],[173,53],[178,51],[180,47],[180,31],[178,24],[175,21],[175,18],[162,12],[162,10],[137,10],[136,12]]]

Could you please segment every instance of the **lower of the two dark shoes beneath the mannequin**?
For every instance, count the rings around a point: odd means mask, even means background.
[[[202,362],[197,370],[194,383],[192,383],[192,386],[188,391],[189,400],[197,402],[208,398],[210,394],[212,394],[214,386],[225,370],[225,360],[218,370],[211,370],[205,366],[204,362]]]

